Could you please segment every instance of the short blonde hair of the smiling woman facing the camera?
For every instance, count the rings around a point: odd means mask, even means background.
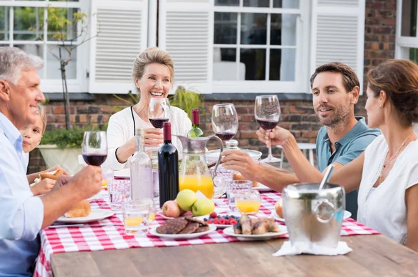
[[[132,77],[141,79],[144,76],[146,65],[150,63],[160,63],[165,65],[170,70],[171,84],[174,82],[174,62],[170,54],[162,51],[158,47],[148,47],[135,58],[134,66],[132,68]],[[138,97],[140,95],[139,88],[137,88]]]

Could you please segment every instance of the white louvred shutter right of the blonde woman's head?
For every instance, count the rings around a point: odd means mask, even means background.
[[[174,61],[174,82],[210,93],[213,0],[160,0],[158,47]]]

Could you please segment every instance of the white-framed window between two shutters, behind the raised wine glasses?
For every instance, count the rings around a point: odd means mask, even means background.
[[[225,82],[247,86],[248,81],[256,81],[253,84],[260,92],[263,86],[273,85],[277,92],[277,85],[292,82],[297,90],[295,83],[304,78],[297,74],[302,50],[300,16],[298,0],[215,0],[215,87],[217,83],[225,88]]]

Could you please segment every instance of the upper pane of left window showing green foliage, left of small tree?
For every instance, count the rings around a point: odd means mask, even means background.
[[[40,40],[44,8],[15,7],[13,38],[15,40]],[[29,28],[34,30],[29,30]]]

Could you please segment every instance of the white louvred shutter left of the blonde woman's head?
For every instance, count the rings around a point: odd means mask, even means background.
[[[148,0],[92,0],[90,93],[134,93],[132,65],[146,49]]]

